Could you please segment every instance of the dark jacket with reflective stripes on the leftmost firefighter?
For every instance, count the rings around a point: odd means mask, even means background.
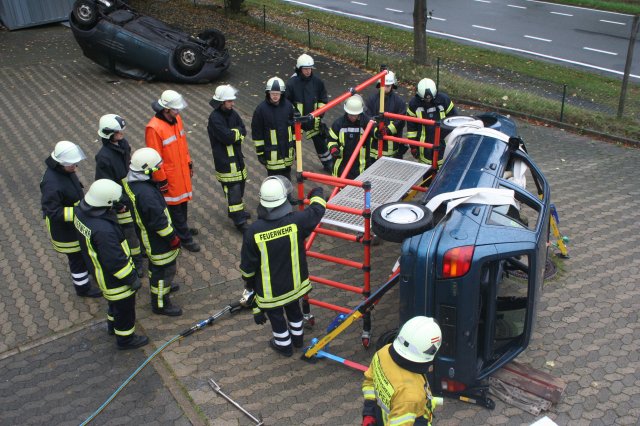
[[[80,251],[73,226],[73,206],[84,196],[76,173],[67,173],[53,158],[45,160],[47,170],[40,181],[40,205],[54,250],[59,253]]]

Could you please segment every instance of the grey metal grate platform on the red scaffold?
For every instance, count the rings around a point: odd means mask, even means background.
[[[400,201],[409,189],[418,183],[431,166],[413,161],[382,157],[356,178],[361,182],[371,182],[371,211],[385,203]],[[362,209],[364,191],[362,188],[347,186],[338,192],[329,203]],[[356,232],[364,232],[364,218],[353,214],[327,210],[323,223]]]

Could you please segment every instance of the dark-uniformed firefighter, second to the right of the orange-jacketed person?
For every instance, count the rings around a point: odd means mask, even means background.
[[[251,119],[251,136],[260,164],[268,176],[284,176],[291,181],[291,165],[295,147],[293,105],[283,94],[284,81],[271,77],[265,86],[265,100]]]

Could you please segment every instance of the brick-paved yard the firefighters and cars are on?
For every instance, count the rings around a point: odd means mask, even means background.
[[[221,18],[220,18],[221,19]],[[300,51],[252,30],[229,28],[235,58],[221,83],[240,89],[238,110],[249,121],[263,98],[268,77],[291,72]],[[351,66],[315,55],[330,96],[365,75]],[[0,32],[0,424],[79,424],[156,348],[192,324],[222,309],[239,294],[240,238],[226,217],[222,191],[214,180],[205,124],[215,85],[140,83],[107,74],[83,58],[62,26]],[[73,294],[65,259],[46,238],[39,211],[38,183],[56,141],[70,139],[89,155],[80,169],[93,177],[95,127],[107,112],[124,115],[134,147],[143,141],[150,103],[167,88],[182,92],[196,164],[192,222],[200,228],[203,251],[178,261],[182,290],[176,302],[185,314],[153,315],[138,295],[138,328],[152,343],[121,352],[107,336],[105,303]],[[406,95],[406,91],[402,90]],[[335,117],[339,112],[332,112]],[[519,122],[533,157],[550,180],[563,232],[571,237],[572,258],[546,285],[538,325],[520,360],[567,381],[562,401],[549,416],[558,424],[634,425],[640,418],[640,151]],[[319,170],[310,145],[304,161]],[[246,202],[258,204],[264,173],[251,149]],[[348,243],[327,238],[318,251],[354,258]],[[373,248],[373,282],[381,283],[398,246]],[[311,262],[313,274],[355,281],[352,271]],[[397,323],[397,293],[374,312],[378,335]],[[316,286],[314,295],[353,306],[357,299]],[[333,315],[316,309],[322,335]],[[212,392],[213,377],[223,391],[268,425],[354,425],[361,410],[361,373],[320,360],[284,359],[267,348],[269,330],[247,312],[227,315],[212,327],[164,350],[97,418],[97,425],[248,425],[232,405]],[[368,363],[371,352],[352,327],[330,350]],[[519,425],[535,417],[498,401],[488,411],[447,400],[439,425]]]

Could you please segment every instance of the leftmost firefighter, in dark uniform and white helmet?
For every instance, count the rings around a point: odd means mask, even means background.
[[[53,249],[67,256],[76,294],[100,297],[102,292],[89,281],[89,271],[73,227],[73,206],[84,196],[76,170],[78,163],[85,158],[82,149],[73,142],[60,141],[56,144],[45,160],[47,170],[40,182],[42,217]]]

